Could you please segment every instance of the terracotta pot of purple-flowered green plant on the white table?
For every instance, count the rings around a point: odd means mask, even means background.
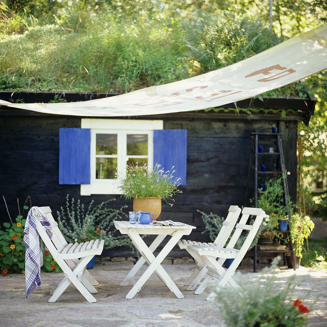
[[[154,214],[155,220],[161,213],[161,199],[173,206],[172,198],[176,193],[183,193],[178,189],[180,178],[175,178],[172,167],[168,171],[156,164],[149,169],[147,164],[127,166],[126,176],[120,180],[119,188],[126,199],[133,198],[133,210]]]

